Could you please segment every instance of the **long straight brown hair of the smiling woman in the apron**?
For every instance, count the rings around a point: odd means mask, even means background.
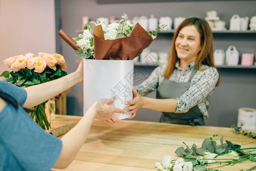
[[[190,17],[186,18],[174,32],[168,63],[163,74],[164,78],[170,78],[170,75],[172,75],[174,71],[175,64],[179,60],[175,49],[175,40],[178,36],[178,33],[183,27],[190,25],[195,26],[197,28],[197,31],[201,35],[201,51],[197,55],[195,61],[196,69],[201,71],[201,64],[205,64],[210,67],[216,68],[213,60],[213,33],[212,30],[210,29],[208,22],[202,18]],[[218,79],[216,86],[219,86],[219,84],[220,77]]]

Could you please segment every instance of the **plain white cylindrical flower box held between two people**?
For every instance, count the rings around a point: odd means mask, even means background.
[[[125,101],[132,100],[133,60],[84,59],[83,109],[84,112],[95,101],[116,96],[114,107],[124,109]],[[131,116],[115,113],[118,119]]]

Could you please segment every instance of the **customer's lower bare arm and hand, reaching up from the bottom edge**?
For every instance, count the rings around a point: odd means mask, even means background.
[[[108,101],[101,101],[102,105],[100,107],[97,105],[97,103],[94,103],[90,109],[88,109],[79,123],[62,137],[62,152],[60,153],[54,168],[66,168],[71,161],[74,160],[79,149],[87,139],[92,121],[95,117],[101,120],[111,118],[114,112],[124,113],[123,110],[108,105],[113,103],[113,101],[115,101],[113,98],[109,99]],[[98,111],[100,111],[100,113]],[[104,116],[101,115],[101,112],[104,112]],[[100,114],[100,116],[97,114]]]

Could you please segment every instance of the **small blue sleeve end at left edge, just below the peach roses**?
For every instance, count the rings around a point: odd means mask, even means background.
[[[11,83],[0,80],[0,92],[7,93],[13,97],[20,105],[23,105],[27,100],[27,92],[25,89],[14,86]]]

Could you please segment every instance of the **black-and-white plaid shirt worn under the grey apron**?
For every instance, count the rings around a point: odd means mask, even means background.
[[[145,96],[148,93],[155,91],[162,81],[165,79],[162,76],[166,64],[162,64],[157,67],[148,79],[144,80],[139,86],[135,86],[135,89],[141,96]],[[195,63],[192,62],[188,65],[185,71],[180,68],[180,63],[177,62],[170,76],[169,80],[177,83],[188,82],[189,77],[195,67]],[[218,71],[214,67],[201,65],[202,71],[197,71],[193,79],[190,82],[189,89],[180,97],[176,97],[177,108],[175,113],[188,112],[190,108],[198,105],[204,118],[208,118],[209,97],[212,95],[214,88],[218,82]]]

